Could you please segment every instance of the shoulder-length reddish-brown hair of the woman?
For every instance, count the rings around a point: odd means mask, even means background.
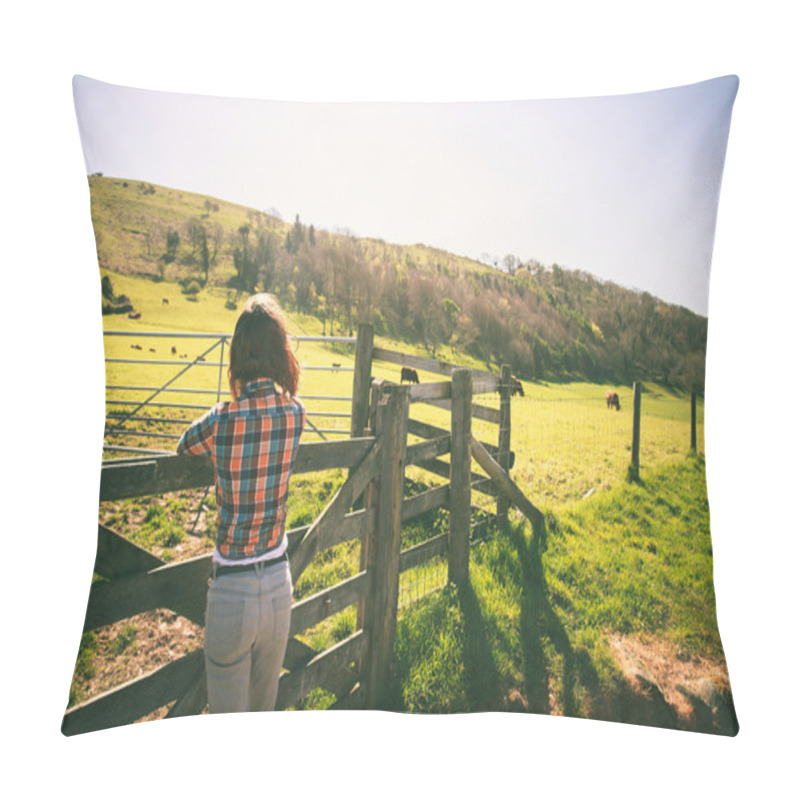
[[[283,312],[270,294],[255,294],[245,303],[231,340],[228,381],[234,398],[256,378],[270,378],[285,395],[297,394],[300,365],[289,343]]]

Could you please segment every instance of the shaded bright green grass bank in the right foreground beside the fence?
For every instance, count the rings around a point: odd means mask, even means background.
[[[402,616],[395,707],[619,719],[623,644],[680,708],[695,673],[727,684],[700,457],[648,471],[472,550],[471,582]]]

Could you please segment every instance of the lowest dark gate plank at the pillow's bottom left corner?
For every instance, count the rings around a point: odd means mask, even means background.
[[[203,651],[195,650],[176,661],[111,689],[71,708],[64,715],[66,736],[128,725],[178,697],[203,668]]]

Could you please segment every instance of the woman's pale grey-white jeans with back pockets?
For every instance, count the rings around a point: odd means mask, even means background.
[[[211,580],[203,646],[209,713],[275,708],[291,610],[286,561]]]

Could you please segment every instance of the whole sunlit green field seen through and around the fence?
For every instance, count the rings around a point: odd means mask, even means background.
[[[230,333],[243,303],[240,299],[237,309],[226,307],[232,298],[222,289],[203,289],[190,300],[178,284],[109,274],[115,292],[128,295],[141,319],[131,320],[124,314],[104,316],[106,331]],[[321,333],[315,318],[290,314],[288,321],[295,335]],[[337,335],[346,333],[336,331]],[[376,343],[425,355],[421,348],[400,342],[380,339]],[[132,349],[132,344],[142,350]],[[212,339],[106,336],[108,359],[170,362],[108,363],[107,386],[162,386],[181,369],[179,360],[193,360],[213,344]],[[171,353],[173,345],[177,356]],[[156,352],[151,353],[150,347]],[[316,398],[351,395],[353,376],[347,368],[353,366],[352,353],[352,345],[298,344],[298,358],[305,367],[330,367],[334,362],[341,365],[335,372],[306,369],[300,384],[309,420],[318,428],[340,429],[341,435],[346,435],[349,427],[349,403]],[[183,355],[186,359],[181,359]],[[451,358],[449,351],[439,353],[439,357],[485,368],[469,359]],[[183,423],[216,401],[219,349],[206,358],[170,388],[207,389],[210,394],[161,393],[158,400],[168,398],[171,403],[190,403],[198,408],[147,412],[183,420],[180,424],[164,422],[155,429],[177,435]],[[223,399],[227,395],[224,367],[223,359]],[[397,365],[376,362],[373,374],[396,381],[399,370]],[[442,377],[420,372],[420,380]],[[605,394],[611,388],[620,395],[619,412],[606,407]],[[512,514],[509,531],[473,548],[469,591],[459,593],[447,587],[401,610],[394,707],[423,712],[503,709],[514,705],[509,698],[522,696],[527,710],[602,716],[604,703],[610,702],[608,698],[620,682],[608,644],[612,635],[655,638],[673,648],[676,658],[708,659],[724,673],[714,615],[702,400],[698,401],[699,453],[693,455],[689,453],[688,395],[655,384],[644,387],[641,480],[629,483],[630,387],[525,383],[524,390],[524,397],[512,399],[511,447],[516,463],[511,474],[526,496],[547,513],[547,531],[538,534],[547,540],[548,548],[540,554],[527,523]],[[152,392],[109,391],[107,399],[124,398],[133,403],[149,394]],[[475,398],[475,402],[497,407],[499,401],[497,396],[487,395]],[[449,416],[441,409],[415,405],[411,415],[449,428]],[[473,431],[483,441],[497,441],[493,425],[473,420]],[[327,436],[338,438],[340,434]],[[311,427],[304,437],[305,441],[320,438]],[[169,451],[175,447],[174,439],[127,434],[114,441]],[[473,469],[479,471],[477,466]],[[414,468],[408,470],[407,478],[415,483],[414,491],[419,491],[423,483],[430,486],[440,482]],[[343,480],[338,470],[298,476],[290,496],[289,526],[313,520]],[[138,501],[130,502],[135,505]],[[202,539],[202,547],[208,550],[213,546],[213,498],[184,493],[163,500],[171,503],[173,517],[182,515],[186,521],[195,516],[202,502],[209,512]],[[480,495],[474,502],[488,509],[494,505]],[[146,508],[140,503],[137,516],[119,505],[101,508],[101,517],[105,515],[108,521],[113,516],[112,527],[134,538],[138,535],[137,520],[142,519]],[[404,546],[426,538],[432,531],[446,530],[446,526],[446,512],[434,512],[416,526],[404,527]],[[176,550],[174,542],[162,550],[157,541],[146,544],[155,546],[162,557],[183,557],[180,545]],[[298,581],[296,596],[299,599],[337,583],[357,569],[357,543],[341,545],[315,560]],[[425,586],[441,586],[445,576],[443,562],[404,574],[401,603],[404,593],[409,598]],[[350,608],[307,632],[304,638],[314,647],[329,646],[349,635],[354,627],[355,609]],[[331,700],[317,690],[304,705],[325,707]]]

